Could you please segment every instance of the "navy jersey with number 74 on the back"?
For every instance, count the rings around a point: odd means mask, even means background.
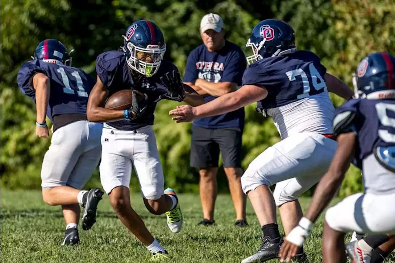
[[[327,90],[326,68],[310,51],[258,60],[245,70],[243,85],[264,86],[268,95],[258,101],[261,109],[271,109]]]

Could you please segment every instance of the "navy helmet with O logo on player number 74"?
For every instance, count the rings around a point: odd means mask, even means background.
[[[247,56],[248,65],[270,56],[290,54],[296,51],[295,32],[282,20],[265,19],[254,26],[246,47],[254,53]]]

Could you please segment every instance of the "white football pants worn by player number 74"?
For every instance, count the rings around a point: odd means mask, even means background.
[[[276,206],[296,200],[326,173],[337,142],[318,133],[295,133],[264,150],[241,177],[244,193],[276,184]]]

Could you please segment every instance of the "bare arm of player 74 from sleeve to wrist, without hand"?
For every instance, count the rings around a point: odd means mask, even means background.
[[[235,92],[224,94],[215,100],[196,107],[196,117],[216,116],[235,111],[256,101],[263,100],[266,96],[267,90],[265,88],[255,85],[244,85]]]

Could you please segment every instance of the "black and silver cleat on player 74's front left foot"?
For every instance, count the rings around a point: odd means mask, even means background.
[[[263,237],[262,244],[258,251],[246,259],[243,259],[241,263],[252,263],[252,262],[265,262],[269,259],[278,257],[280,248],[282,245],[282,237],[270,239],[269,237]]]

